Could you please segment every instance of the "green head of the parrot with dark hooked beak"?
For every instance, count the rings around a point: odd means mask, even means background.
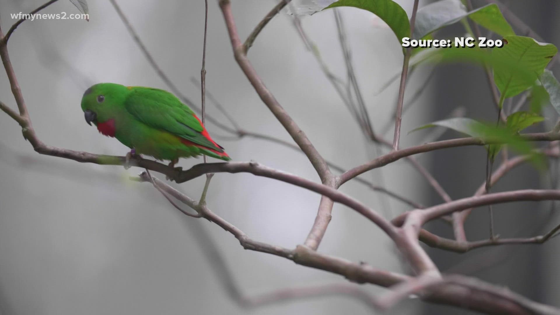
[[[116,119],[123,114],[124,101],[129,92],[128,87],[114,83],[99,83],[92,85],[82,96],[82,110],[86,122],[104,123]]]

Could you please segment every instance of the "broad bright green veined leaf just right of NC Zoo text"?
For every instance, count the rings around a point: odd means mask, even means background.
[[[504,64],[494,64],[494,82],[502,93],[502,99],[533,86],[557,52],[553,44],[539,43],[530,37],[505,36],[503,47],[492,49],[494,59],[517,63],[526,73],[516,72]]]

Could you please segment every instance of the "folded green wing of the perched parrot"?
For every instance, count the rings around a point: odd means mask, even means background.
[[[136,119],[150,127],[167,131],[198,145],[223,152],[202,132],[204,128],[194,112],[175,95],[165,90],[134,86],[124,107]]]

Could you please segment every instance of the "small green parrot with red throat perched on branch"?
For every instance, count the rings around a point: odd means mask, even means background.
[[[171,160],[171,167],[198,155],[231,160],[193,110],[165,90],[100,83],[83,93],[82,110],[90,126],[131,149],[127,160],[144,154]]]

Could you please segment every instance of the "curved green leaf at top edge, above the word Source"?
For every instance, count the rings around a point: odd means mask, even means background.
[[[356,7],[374,13],[389,25],[399,44],[404,37],[410,37],[407,12],[392,0],[339,0],[325,9],[334,7]]]

